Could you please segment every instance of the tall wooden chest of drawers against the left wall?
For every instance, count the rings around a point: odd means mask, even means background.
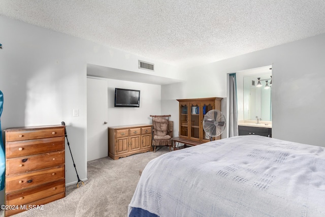
[[[6,205],[10,216],[66,196],[64,126],[6,132]],[[24,206],[25,205],[25,206]]]

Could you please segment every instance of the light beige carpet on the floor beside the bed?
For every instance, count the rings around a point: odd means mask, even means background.
[[[108,157],[89,161],[85,186],[79,184],[77,189],[76,184],[70,185],[65,198],[45,204],[43,210],[27,210],[13,216],[126,216],[140,178],[139,170],[167,152],[169,148],[160,147],[155,153],[139,153],[115,161]]]

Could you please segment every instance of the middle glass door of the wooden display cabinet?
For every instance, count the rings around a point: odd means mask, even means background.
[[[189,102],[189,138],[192,140],[200,140],[200,112],[202,112],[200,102]]]

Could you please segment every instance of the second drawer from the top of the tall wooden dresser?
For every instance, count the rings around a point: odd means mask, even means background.
[[[16,158],[32,154],[64,150],[64,144],[64,137],[7,142],[6,157]]]

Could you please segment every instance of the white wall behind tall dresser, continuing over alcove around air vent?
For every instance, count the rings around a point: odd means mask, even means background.
[[[87,64],[151,73],[138,69],[138,59],[141,59],[155,64],[155,75],[179,78],[178,69],[156,60],[3,16],[0,16],[0,26],[4,47],[0,50],[0,89],[4,93],[2,129],[60,125],[65,121],[81,179],[87,177]],[[73,109],[79,109],[79,117],[73,117]],[[114,122],[120,125],[126,120]],[[66,151],[66,183],[74,183],[76,179],[70,153]],[[1,203],[4,203],[3,195],[0,192]]]

